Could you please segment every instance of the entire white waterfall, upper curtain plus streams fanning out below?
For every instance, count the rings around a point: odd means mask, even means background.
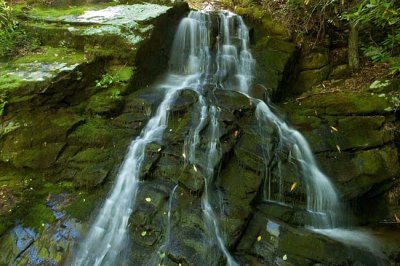
[[[310,226],[332,229],[340,224],[342,209],[337,193],[329,179],[318,169],[303,136],[289,128],[266,103],[248,96],[255,62],[248,48],[249,33],[242,18],[230,12],[220,12],[217,20],[218,32],[213,32],[215,29],[212,28],[211,13],[193,11],[181,21],[171,52],[169,74],[156,88],[165,94],[164,99],[140,136],[130,144],[115,184],[86,239],[79,246],[72,265],[121,264],[121,254],[128,244],[128,219],[135,209],[146,146],[151,142],[162,144],[169,109],[179,91],[186,88],[191,88],[198,94],[199,119],[185,141],[184,156],[195,171],[202,171],[205,183],[201,198],[204,222],[212,238],[210,242],[219,249],[228,265],[238,264],[226,246],[219,227],[218,217],[221,214],[213,208],[215,202],[211,200],[217,198],[213,195],[215,188],[212,184],[221,151],[219,110],[212,98],[208,97],[210,86],[213,89],[240,91],[249,97],[256,103],[256,118],[259,124],[274,124],[278,133],[278,143],[291,147],[290,151],[306,183],[307,210],[312,214]],[[200,132],[206,127],[209,131],[207,149],[197,156],[201,153],[198,150],[201,143]],[[169,241],[171,206],[176,188],[173,189],[169,202],[165,245],[168,245]],[[285,203],[283,199],[281,201]]]

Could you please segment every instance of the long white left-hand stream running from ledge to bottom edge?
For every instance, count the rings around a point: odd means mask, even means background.
[[[167,125],[168,107],[179,87],[169,89],[156,114],[129,146],[111,194],[101,208],[72,265],[112,265],[127,244],[127,225],[138,190],[146,145],[160,142]]]

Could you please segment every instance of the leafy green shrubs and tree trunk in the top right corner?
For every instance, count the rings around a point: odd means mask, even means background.
[[[229,1],[228,1],[229,2]],[[400,73],[400,1],[397,0],[232,0],[233,5],[261,6],[286,25],[302,45],[326,44],[333,31],[348,39],[349,66],[360,68],[359,51]],[[360,36],[359,36],[360,35]],[[337,40],[336,40],[337,41]]]

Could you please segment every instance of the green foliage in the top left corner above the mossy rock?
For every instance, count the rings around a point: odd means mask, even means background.
[[[0,57],[14,56],[38,47],[38,40],[28,36],[18,25],[12,8],[0,0]]]

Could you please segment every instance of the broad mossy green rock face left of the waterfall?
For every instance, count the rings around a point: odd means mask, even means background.
[[[21,24],[43,45],[0,64],[0,264],[65,262],[151,114],[152,100],[129,86],[143,67],[139,47],[188,10],[91,8],[24,10]]]

